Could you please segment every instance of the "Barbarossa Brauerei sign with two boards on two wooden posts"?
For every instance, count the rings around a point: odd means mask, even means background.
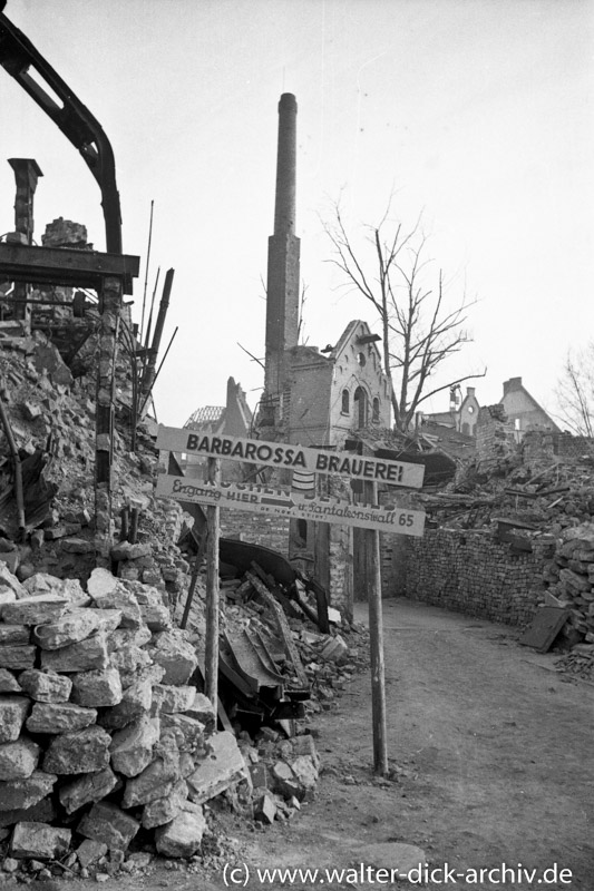
[[[425,513],[378,503],[378,481],[388,486],[420,488],[422,464],[324,451],[282,442],[240,437],[210,437],[189,430],[159,427],[157,447],[208,458],[208,482],[162,473],[157,496],[187,503],[206,505],[206,694],[217,701],[218,674],[218,535],[221,507],[257,513],[296,517],[317,522],[340,523],[366,530],[366,587],[369,604],[371,656],[371,712],[373,723],[373,770],[388,773],[386,678],[381,604],[380,531],[422,536]],[[337,473],[363,482],[367,503],[352,505],[337,498],[304,496],[283,489],[246,483],[221,482],[221,458],[264,467]]]

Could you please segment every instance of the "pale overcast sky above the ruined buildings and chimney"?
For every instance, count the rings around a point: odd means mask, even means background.
[[[285,91],[299,105],[308,342],[335,343],[352,319],[374,325],[324,262],[321,219],[342,192],[349,225],[374,223],[393,192],[405,225],[422,212],[452,301],[479,301],[451,376],[487,366],[481,404],[522,376],[553,409],[568,347],[592,335],[593,0],[9,0],[4,13],[111,141],[124,251],[142,256],[136,321],[155,202],[149,294],[157,266],[162,282],[175,268],[165,344],[179,326],[156,386],[160,421],[224,404],[230,375],[252,405],[260,395],[262,369],[237,344],[264,354]],[[85,163],[3,70],[0,110],[0,233],[13,228],[4,159],[32,157],[45,174],[37,241],[64,216],[105,249]]]

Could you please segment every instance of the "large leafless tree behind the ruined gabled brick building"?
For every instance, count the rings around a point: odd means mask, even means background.
[[[340,203],[331,224],[323,224],[334,256],[329,261],[345,276],[345,286],[359,291],[377,311],[382,326],[383,366],[390,380],[395,423],[408,430],[419,405],[429,396],[462,381],[466,374],[431,388],[429,378],[471,337],[464,327],[476,301],[465,297],[447,309],[444,273],[431,268],[420,218],[405,231],[390,219],[390,205],[377,226],[368,225],[366,246],[356,249],[347,232]]]

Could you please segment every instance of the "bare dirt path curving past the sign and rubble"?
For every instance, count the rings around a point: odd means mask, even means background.
[[[384,601],[383,623],[391,780],[373,776],[370,678],[360,675],[339,708],[314,722],[324,764],[317,800],[265,830],[221,815],[242,871],[159,870],[118,887],[211,891],[225,887],[225,875],[227,887],[251,891],[594,891],[594,686],[564,679],[553,654],[519,647],[506,626],[401,599]],[[422,849],[438,870],[434,881],[412,873],[412,883],[393,884],[368,869],[403,869],[415,852],[402,845]],[[261,880],[264,868],[320,872],[283,884],[279,875]],[[342,882],[323,872],[332,868],[347,870]],[[475,881],[473,869],[496,872]],[[559,879],[561,870],[571,878]]]

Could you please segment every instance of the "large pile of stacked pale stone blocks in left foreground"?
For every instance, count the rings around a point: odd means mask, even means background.
[[[162,594],[106,569],[85,591],[47,575],[21,584],[0,568],[8,862],[59,861],[82,875],[107,862],[114,871],[135,838],[167,856],[195,854],[203,804],[240,781],[245,763],[188,683],[195,650],[172,627]]]

